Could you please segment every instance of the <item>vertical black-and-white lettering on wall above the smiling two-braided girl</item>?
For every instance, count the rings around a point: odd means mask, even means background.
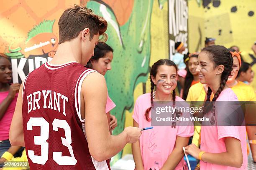
[[[184,43],[187,53],[187,0],[169,0],[169,54],[170,59],[175,53],[175,42]]]

